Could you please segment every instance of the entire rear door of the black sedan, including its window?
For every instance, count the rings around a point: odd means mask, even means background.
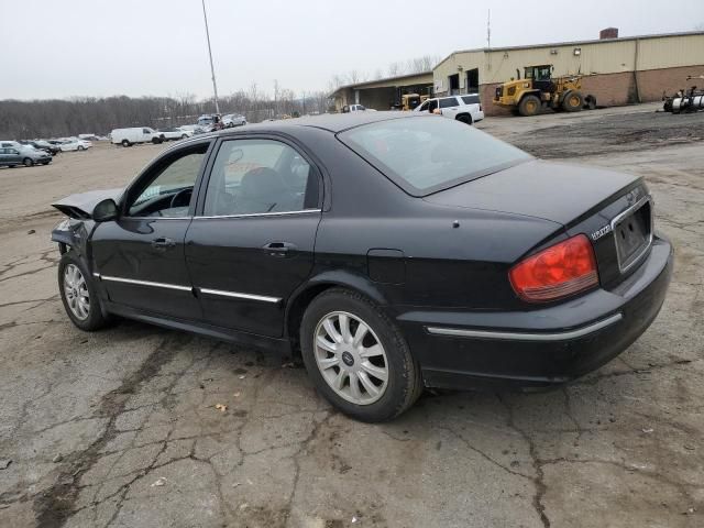
[[[186,233],[186,264],[205,321],[283,334],[284,307],[310,274],[320,175],[287,141],[222,141]]]

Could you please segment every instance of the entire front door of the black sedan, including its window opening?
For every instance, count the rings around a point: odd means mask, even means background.
[[[97,227],[91,239],[94,273],[113,302],[201,319],[184,239],[209,145],[196,143],[158,157],[124,193],[120,218]]]

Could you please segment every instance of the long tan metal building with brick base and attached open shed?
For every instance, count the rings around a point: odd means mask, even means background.
[[[465,50],[450,54],[432,70],[432,92],[480,94],[487,116],[506,113],[492,103],[502,82],[522,75],[524,67],[553,65],[553,75],[581,73],[584,95],[596,97],[600,106],[656,101],[663,92],[689,88],[688,76],[704,75],[704,32],[668,33],[617,37],[609,28],[600,40],[530,46]],[[422,81],[429,74],[424,74]],[[340,107],[360,102],[377,110],[389,108],[391,91],[409,92],[420,84],[418,76],[404,76],[373,82],[349,85],[333,97]],[[404,91],[405,90],[405,91]],[[359,98],[359,99],[358,99]],[[345,102],[342,102],[345,101]]]

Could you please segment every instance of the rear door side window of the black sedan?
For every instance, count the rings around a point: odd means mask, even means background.
[[[204,216],[294,212],[318,207],[318,173],[274,140],[222,143],[208,182]]]

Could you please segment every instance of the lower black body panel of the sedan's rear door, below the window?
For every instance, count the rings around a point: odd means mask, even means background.
[[[310,274],[319,211],[240,218],[196,218],[186,263],[204,320],[280,337],[284,307]]]

